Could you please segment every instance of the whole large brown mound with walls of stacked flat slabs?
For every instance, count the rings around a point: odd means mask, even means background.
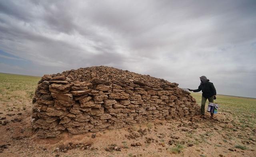
[[[32,125],[42,138],[193,116],[198,110],[176,83],[104,66],[44,75],[35,94]]]

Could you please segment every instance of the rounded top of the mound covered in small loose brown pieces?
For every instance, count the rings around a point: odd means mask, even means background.
[[[52,77],[65,75],[66,80],[70,82],[94,82],[96,80],[108,81],[110,84],[140,84],[150,86],[151,88],[176,87],[178,84],[168,82],[167,80],[150,77],[150,75],[141,75],[127,70],[116,69],[113,67],[96,66],[86,67],[77,70],[64,71],[53,74]]]

